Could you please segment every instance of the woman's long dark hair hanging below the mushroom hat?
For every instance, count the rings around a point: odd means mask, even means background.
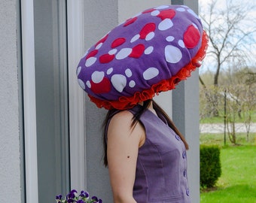
[[[157,105],[156,102],[152,99],[148,99],[145,102],[143,102],[142,108],[140,111],[136,112],[136,114],[133,115],[133,121],[131,124],[131,128],[136,126],[136,123],[139,122],[140,117],[142,114],[148,109],[149,105],[153,102],[153,108],[157,112],[157,114],[163,115],[163,117],[166,119],[168,126],[177,134],[180,136],[181,140],[184,142],[184,145],[186,149],[188,150],[188,144],[187,141],[185,140],[184,136],[181,134],[181,132],[178,131],[176,128],[175,124],[172,122],[172,120],[169,118],[169,116],[166,114],[165,111],[163,111],[162,108],[160,108],[159,105]],[[108,111],[108,114],[105,117],[104,123],[103,123],[103,147],[104,147],[104,165],[107,167],[108,166],[108,155],[107,155],[107,131],[108,131],[108,122],[111,120],[112,117],[114,117],[115,114],[120,112],[122,110],[117,110],[117,109],[111,109]]]

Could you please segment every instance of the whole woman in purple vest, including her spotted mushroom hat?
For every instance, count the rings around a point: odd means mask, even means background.
[[[105,119],[114,202],[190,202],[188,145],[152,100],[200,67],[208,38],[183,5],[142,11],[108,32],[78,64],[79,85]]]

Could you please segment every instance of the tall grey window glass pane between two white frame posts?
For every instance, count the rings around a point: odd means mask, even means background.
[[[39,202],[69,190],[66,1],[34,0]]]

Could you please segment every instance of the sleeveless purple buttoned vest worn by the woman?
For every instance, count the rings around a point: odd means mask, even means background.
[[[136,114],[141,108],[129,111]],[[158,113],[157,113],[158,114]],[[190,202],[184,143],[164,117],[147,110],[140,118],[145,144],[139,148],[133,197],[138,203]]]

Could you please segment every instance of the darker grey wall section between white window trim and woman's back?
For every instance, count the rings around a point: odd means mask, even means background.
[[[102,38],[118,23],[117,0],[84,1],[85,50]],[[90,195],[113,202],[108,178],[108,169],[102,162],[102,122],[107,111],[96,108],[89,98],[85,100],[86,129],[86,182]]]

